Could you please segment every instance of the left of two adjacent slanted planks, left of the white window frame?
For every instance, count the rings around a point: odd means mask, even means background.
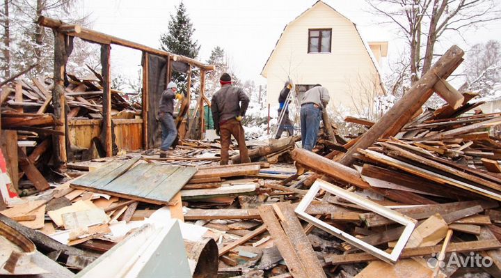
[[[289,272],[291,272],[293,277],[308,277],[308,270],[303,265],[301,258],[297,254],[294,246],[287,238],[287,235],[280,226],[278,218],[273,212],[271,206],[260,206],[259,207],[261,218],[269,231],[273,242],[278,247],[280,254],[282,255]]]

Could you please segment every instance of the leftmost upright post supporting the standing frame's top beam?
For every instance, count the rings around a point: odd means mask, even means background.
[[[52,107],[57,121],[63,125],[56,125],[54,130],[62,135],[54,135],[53,150],[54,164],[58,169],[65,169],[67,163],[66,154],[66,111],[65,111],[65,68],[68,56],[72,51],[73,38],[54,31],[54,88],[52,89]]]

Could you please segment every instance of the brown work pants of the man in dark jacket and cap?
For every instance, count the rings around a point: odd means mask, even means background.
[[[248,150],[245,144],[245,132],[239,121],[234,118],[225,121],[219,126],[219,134],[221,134],[221,165],[228,165],[231,136],[237,139],[240,150],[240,162],[249,163]]]

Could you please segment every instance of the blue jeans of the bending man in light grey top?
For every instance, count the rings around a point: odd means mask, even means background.
[[[307,103],[301,106],[301,145],[305,150],[313,150],[317,144],[321,110]]]

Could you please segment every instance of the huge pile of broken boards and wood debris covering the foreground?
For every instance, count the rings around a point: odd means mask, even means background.
[[[166,159],[69,164],[79,178],[12,198],[0,223],[86,277],[153,275],[156,257],[184,277],[169,256],[183,248],[193,277],[501,277],[501,114],[472,114],[475,94],[443,85],[459,54],[376,123],[350,118],[372,128],[346,143],[312,153],[290,137],[218,166],[219,144],[180,140]],[[416,114],[433,91],[448,104]]]

